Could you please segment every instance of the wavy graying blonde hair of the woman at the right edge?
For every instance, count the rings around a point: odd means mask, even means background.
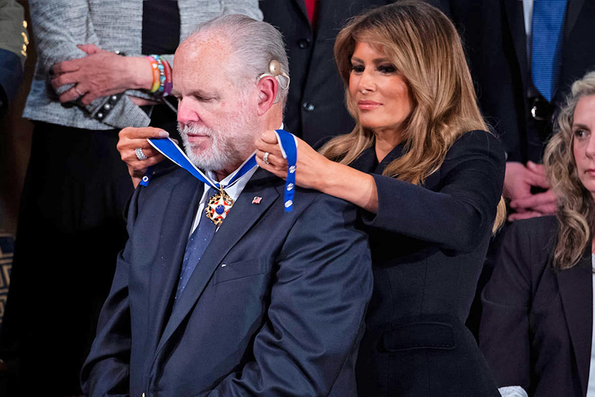
[[[595,220],[593,196],[578,177],[572,151],[574,109],[578,101],[588,95],[595,95],[595,71],[572,84],[571,93],[558,114],[554,135],[543,155],[547,179],[558,198],[558,242],[552,265],[559,269],[576,265],[592,239]]]

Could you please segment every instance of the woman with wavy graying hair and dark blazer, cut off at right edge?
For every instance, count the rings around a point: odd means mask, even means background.
[[[483,291],[480,346],[514,396],[593,396],[595,72],[572,85],[543,159],[556,217],[506,230]]]

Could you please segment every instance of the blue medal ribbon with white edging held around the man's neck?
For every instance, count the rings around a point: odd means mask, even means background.
[[[295,195],[296,185],[296,162],[297,162],[297,140],[292,133],[285,130],[275,130],[277,135],[277,142],[281,148],[281,154],[283,158],[287,160],[287,179],[285,180],[285,194],[283,205],[286,212],[290,212],[293,209],[293,196]],[[182,151],[180,146],[176,144],[171,138],[149,138],[147,139],[151,146],[153,146],[162,155],[175,162],[184,170],[192,174],[196,179],[207,185],[214,187],[215,189],[221,189],[221,185],[217,182],[212,181],[209,177],[202,173],[201,170],[196,168],[194,164],[186,157],[186,154]],[[230,182],[227,186],[233,185],[237,180],[244,176],[248,171],[252,170],[256,166],[256,155],[253,154],[248,160],[246,160],[240,169],[236,171],[236,174],[231,177]],[[143,176],[140,185],[147,186],[151,181],[153,174],[153,167],[149,167],[145,176]]]

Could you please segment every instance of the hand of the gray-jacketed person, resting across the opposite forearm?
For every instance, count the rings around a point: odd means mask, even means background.
[[[89,105],[101,96],[113,95],[127,89],[151,89],[151,64],[143,57],[121,57],[93,44],[77,45],[87,53],[84,58],[64,61],[52,66],[52,87],[74,84],[59,97],[60,102],[80,98]]]

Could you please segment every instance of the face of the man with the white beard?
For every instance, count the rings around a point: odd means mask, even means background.
[[[256,92],[234,86],[227,54],[227,43],[216,38],[183,43],[176,51],[178,129],[186,154],[205,170],[237,168],[254,151],[259,133]]]

